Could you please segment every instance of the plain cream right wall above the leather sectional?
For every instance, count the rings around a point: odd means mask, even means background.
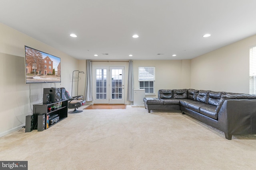
[[[191,60],[191,88],[249,93],[249,48],[256,35]]]

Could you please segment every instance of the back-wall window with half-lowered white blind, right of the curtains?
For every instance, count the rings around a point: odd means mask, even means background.
[[[139,67],[139,87],[146,94],[155,93],[155,67]]]

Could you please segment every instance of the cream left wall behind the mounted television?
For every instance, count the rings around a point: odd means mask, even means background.
[[[33,104],[42,102],[43,88],[56,86],[70,90],[70,75],[78,68],[79,61],[2,23],[0,37],[0,136],[3,136],[24,126]],[[61,58],[61,84],[25,83],[25,45]]]

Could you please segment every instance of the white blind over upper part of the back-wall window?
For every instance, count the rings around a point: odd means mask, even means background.
[[[139,81],[155,80],[155,67],[139,67]]]

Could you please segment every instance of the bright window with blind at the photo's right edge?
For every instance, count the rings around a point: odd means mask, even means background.
[[[250,48],[250,94],[256,94],[256,46]]]

